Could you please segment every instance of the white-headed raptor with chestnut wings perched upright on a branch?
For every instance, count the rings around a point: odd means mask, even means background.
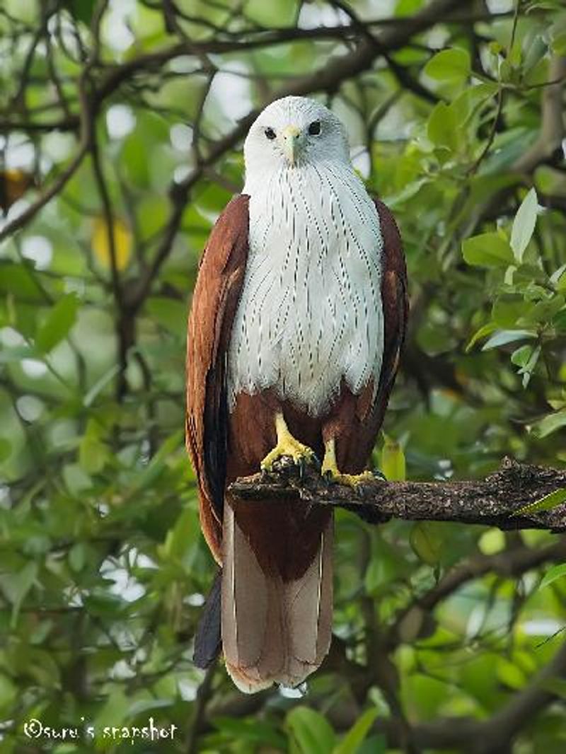
[[[251,694],[297,688],[331,643],[331,507],[241,501],[238,477],[281,458],[356,487],[398,369],[407,272],[392,213],[368,194],[340,118],[275,100],[244,144],[245,183],[201,256],[189,313],[186,445],[220,569],[194,661],[223,651]]]

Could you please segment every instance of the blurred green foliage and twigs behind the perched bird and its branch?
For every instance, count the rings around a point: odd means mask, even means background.
[[[564,752],[564,538],[339,511],[331,654],[246,697],[192,666],[183,449],[198,259],[255,113],[301,93],[405,241],[375,464],[564,465],[564,55],[561,0],[2,2],[0,752]],[[149,717],[174,738],[123,737]]]

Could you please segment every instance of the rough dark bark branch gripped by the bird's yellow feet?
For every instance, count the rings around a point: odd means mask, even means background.
[[[518,514],[525,505],[566,487],[566,470],[519,464],[504,458],[500,470],[484,480],[363,483],[356,489],[328,484],[309,467],[303,477],[281,459],[276,470],[238,479],[229,492],[240,501],[294,499],[306,504],[353,510],[371,523],[390,519],[455,521],[500,529],[566,531],[566,504]]]

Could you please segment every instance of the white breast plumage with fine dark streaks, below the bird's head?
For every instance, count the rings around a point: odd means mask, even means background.
[[[229,406],[274,388],[311,415],[383,355],[383,237],[352,170],[284,168],[251,193],[249,254],[228,354]]]

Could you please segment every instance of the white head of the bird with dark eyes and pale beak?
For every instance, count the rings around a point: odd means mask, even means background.
[[[279,170],[329,161],[350,164],[342,122],[307,97],[284,97],[260,112],[245,140],[244,157],[245,193]]]

